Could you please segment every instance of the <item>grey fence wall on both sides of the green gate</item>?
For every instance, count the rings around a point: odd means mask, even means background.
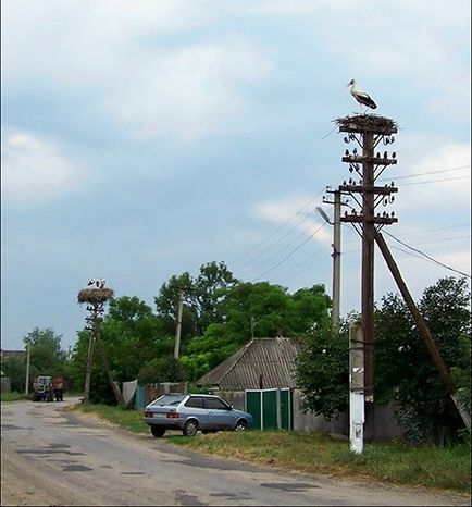
[[[226,403],[239,410],[245,409],[244,391],[212,391],[216,396],[221,396]],[[311,412],[303,413],[300,408],[301,392],[294,391],[294,430],[314,431],[323,434],[336,433],[349,436],[349,411],[339,413],[338,417],[326,421],[323,416],[315,416]],[[402,428],[398,424],[395,410],[397,405],[367,405],[364,440],[365,442],[383,442],[399,438],[403,435]]]

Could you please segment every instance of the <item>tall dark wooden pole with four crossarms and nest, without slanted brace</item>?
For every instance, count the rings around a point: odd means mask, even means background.
[[[397,222],[394,213],[380,213],[375,215],[378,203],[393,202],[392,194],[397,188],[390,186],[375,186],[375,180],[387,165],[396,164],[396,154],[388,157],[385,151],[374,153],[376,146],[383,141],[388,145],[395,140],[393,134],[397,132],[395,123],[383,116],[356,115],[338,119],[339,132],[348,135],[345,143],[357,143],[362,153],[358,154],[357,147],[352,152],[346,150],[343,162],[349,164],[349,171],[360,176],[359,182],[352,177],[344,182],[338,191],[349,194],[360,206],[360,212],[352,211],[340,219],[341,222],[350,222],[362,238],[362,275],[361,275],[361,312],[362,334],[364,342],[364,392],[365,400],[373,401],[374,388],[374,234],[377,228]]]

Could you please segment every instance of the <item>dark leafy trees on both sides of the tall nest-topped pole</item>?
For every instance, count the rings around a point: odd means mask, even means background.
[[[470,293],[464,279],[445,277],[427,287],[418,304],[446,366],[470,410]],[[348,316],[336,335],[327,325],[305,337],[297,379],[305,408],[326,418],[348,406]],[[412,443],[456,438],[462,422],[442,383],[405,301],[394,294],[375,311],[374,398],[398,401],[399,421]]]

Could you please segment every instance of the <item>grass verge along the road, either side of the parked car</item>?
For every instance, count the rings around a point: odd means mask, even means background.
[[[104,405],[75,405],[133,433],[149,434],[142,411]],[[335,477],[376,479],[393,484],[471,491],[470,444],[452,447],[409,447],[401,443],[367,443],[361,455],[348,442],[314,432],[219,432],[185,437],[173,432],[163,441],[199,453],[239,459],[265,467],[327,473]]]

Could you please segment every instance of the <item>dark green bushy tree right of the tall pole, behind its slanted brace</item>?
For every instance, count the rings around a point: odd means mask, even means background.
[[[442,279],[426,288],[418,305],[464,401],[470,394],[469,305],[465,280],[454,277]],[[382,309],[376,312],[375,351],[375,395],[382,401],[400,403],[399,421],[409,442],[444,445],[456,441],[462,422],[398,296],[384,297]]]

